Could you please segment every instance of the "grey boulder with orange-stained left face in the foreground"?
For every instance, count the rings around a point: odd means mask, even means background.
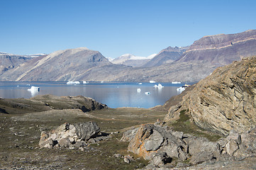
[[[157,152],[166,152],[168,157],[187,159],[182,148],[185,143],[172,135],[172,130],[152,124],[142,125],[135,137],[130,140],[128,151],[140,155],[144,159],[152,159]]]

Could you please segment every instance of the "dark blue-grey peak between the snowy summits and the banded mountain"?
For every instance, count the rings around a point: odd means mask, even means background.
[[[188,48],[189,47],[167,47],[155,55],[152,60],[143,64],[142,67],[156,67],[179,60]]]

